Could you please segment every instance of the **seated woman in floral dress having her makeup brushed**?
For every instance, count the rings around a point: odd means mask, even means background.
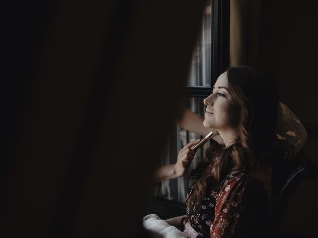
[[[204,126],[218,130],[225,146],[207,151],[205,167],[185,200],[187,214],[166,220],[187,237],[260,237],[269,215],[278,93],[275,80],[256,69],[230,67],[204,99]],[[193,154],[191,149],[182,149]],[[181,221],[182,220],[182,221]]]

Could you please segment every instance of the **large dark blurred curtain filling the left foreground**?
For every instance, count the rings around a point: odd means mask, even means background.
[[[203,8],[180,0],[3,6],[0,237],[142,236]]]

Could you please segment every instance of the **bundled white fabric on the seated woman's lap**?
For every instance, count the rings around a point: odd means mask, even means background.
[[[170,226],[166,221],[161,220],[156,214],[149,214],[143,218],[144,228],[158,233],[163,238],[186,238],[186,235],[176,227]]]

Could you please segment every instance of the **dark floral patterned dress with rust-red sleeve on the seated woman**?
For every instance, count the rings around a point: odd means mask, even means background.
[[[218,186],[208,185],[201,204],[191,203],[187,221],[197,238],[261,237],[269,215],[266,191],[247,172],[231,173]]]

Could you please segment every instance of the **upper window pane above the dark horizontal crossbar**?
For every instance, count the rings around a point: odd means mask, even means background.
[[[212,0],[207,0],[202,29],[192,55],[186,86],[211,87]]]

